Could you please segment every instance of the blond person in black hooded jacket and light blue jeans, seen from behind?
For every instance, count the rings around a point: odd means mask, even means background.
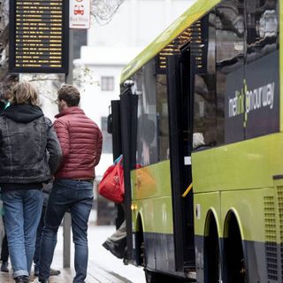
[[[50,119],[38,106],[27,81],[11,91],[11,105],[0,115],[0,187],[13,278],[29,282],[36,229],[42,212],[42,182],[62,157]]]

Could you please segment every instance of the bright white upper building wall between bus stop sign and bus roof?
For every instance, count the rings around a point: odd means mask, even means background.
[[[126,0],[108,25],[92,19],[88,46],[142,46],[152,42],[195,0]]]

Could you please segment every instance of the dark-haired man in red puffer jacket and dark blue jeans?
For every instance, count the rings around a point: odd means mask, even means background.
[[[75,246],[73,283],[85,282],[88,267],[88,217],[93,204],[93,180],[99,163],[103,136],[94,121],[78,105],[80,92],[65,85],[57,92],[59,114],[54,127],[63,151],[42,231],[42,246],[37,282],[48,283],[50,264],[56,246],[57,230],[66,211],[71,212]],[[36,282],[35,281],[35,282]]]

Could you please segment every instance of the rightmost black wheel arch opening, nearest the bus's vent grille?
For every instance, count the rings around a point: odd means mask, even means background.
[[[241,221],[235,210],[229,210],[224,222],[223,277],[228,283],[247,282]]]

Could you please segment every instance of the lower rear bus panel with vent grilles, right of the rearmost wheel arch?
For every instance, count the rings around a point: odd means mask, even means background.
[[[277,223],[276,188],[230,191],[221,193],[221,212],[224,239],[233,211],[241,231],[241,240],[249,282],[281,282],[280,243]]]

